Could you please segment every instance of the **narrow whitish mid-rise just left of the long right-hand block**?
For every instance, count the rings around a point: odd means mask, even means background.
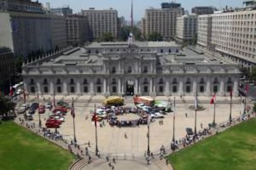
[[[176,40],[179,42],[196,41],[197,37],[197,15],[183,15],[177,17]]]

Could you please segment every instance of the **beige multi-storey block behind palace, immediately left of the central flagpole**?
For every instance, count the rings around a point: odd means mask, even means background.
[[[90,8],[82,10],[82,14],[88,17],[89,29],[93,39],[100,39],[104,33],[111,33],[114,38],[117,38],[117,10],[95,10]]]

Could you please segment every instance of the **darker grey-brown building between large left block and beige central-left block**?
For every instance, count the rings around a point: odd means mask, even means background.
[[[67,44],[72,46],[83,46],[90,40],[88,30],[88,18],[84,15],[68,15],[66,17]]]

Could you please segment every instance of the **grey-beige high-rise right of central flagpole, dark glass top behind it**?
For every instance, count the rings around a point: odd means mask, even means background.
[[[176,19],[184,14],[181,4],[161,4],[161,9],[147,9],[142,18],[142,34],[160,33],[164,39],[173,39],[176,33]]]

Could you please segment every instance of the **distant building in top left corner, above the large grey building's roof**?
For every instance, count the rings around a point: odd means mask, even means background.
[[[43,13],[41,3],[38,3],[38,1],[33,2],[31,0],[2,0],[0,3],[0,10]]]

